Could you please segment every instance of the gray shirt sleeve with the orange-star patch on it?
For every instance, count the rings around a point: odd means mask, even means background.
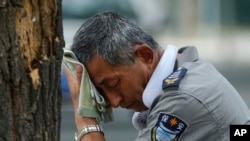
[[[188,92],[172,91],[157,97],[147,117],[147,126],[136,141],[220,141],[220,127],[204,101]]]

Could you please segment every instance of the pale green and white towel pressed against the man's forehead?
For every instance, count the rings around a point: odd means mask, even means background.
[[[110,122],[114,120],[112,108],[104,97],[97,91],[89,78],[85,66],[78,61],[70,46],[64,48],[63,65],[76,78],[75,66],[83,67],[81,78],[78,113],[81,116],[96,118],[98,121]]]

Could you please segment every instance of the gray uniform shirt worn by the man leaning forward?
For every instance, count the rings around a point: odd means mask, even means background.
[[[135,140],[229,141],[230,124],[250,124],[249,108],[211,64],[199,59],[195,47],[181,50],[178,68],[187,72],[178,87],[154,100]]]

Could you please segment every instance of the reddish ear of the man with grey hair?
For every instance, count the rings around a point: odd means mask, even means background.
[[[146,64],[151,64],[154,59],[154,51],[146,44],[135,45],[135,57]]]

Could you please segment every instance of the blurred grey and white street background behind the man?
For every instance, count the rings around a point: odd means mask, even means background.
[[[117,11],[135,20],[166,47],[195,45],[200,58],[213,63],[250,107],[249,0],[63,0],[66,44],[84,20],[101,11]],[[61,140],[74,140],[73,107],[62,72]],[[233,104],[233,103],[232,103]],[[132,111],[114,110],[115,121],[103,124],[108,141],[134,140]]]

